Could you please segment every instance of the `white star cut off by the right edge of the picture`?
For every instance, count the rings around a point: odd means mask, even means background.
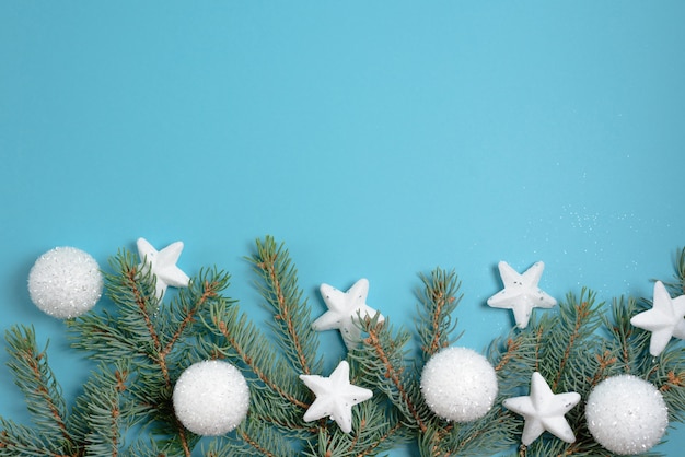
[[[685,295],[671,298],[665,285],[657,281],[652,308],[632,316],[630,324],[651,331],[649,353],[661,354],[671,337],[685,339]]]

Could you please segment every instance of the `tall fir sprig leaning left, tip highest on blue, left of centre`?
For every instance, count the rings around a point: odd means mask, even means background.
[[[321,371],[316,359],[318,340],[312,329],[311,312],[298,286],[298,271],[283,244],[271,236],[256,241],[257,253],[249,259],[262,277],[257,288],[275,313],[278,341],[295,371],[309,375]]]

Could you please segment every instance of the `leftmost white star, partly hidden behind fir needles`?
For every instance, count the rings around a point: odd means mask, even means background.
[[[144,261],[142,268],[149,268],[156,278],[156,297],[162,300],[167,286],[186,288],[188,276],[176,267],[183,250],[183,242],[172,243],[162,250],[156,250],[146,238],[138,238],[138,256]],[[141,263],[142,265],[142,263]]]

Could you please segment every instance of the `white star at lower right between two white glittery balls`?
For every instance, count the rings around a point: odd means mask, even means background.
[[[508,398],[502,405],[525,419],[521,443],[527,446],[545,430],[559,440],[573,443],[576,435],[564,414],[579,401],[580,395],[574,391],[553,394],[543,375],[535,372],[531,377],[531,395]]]

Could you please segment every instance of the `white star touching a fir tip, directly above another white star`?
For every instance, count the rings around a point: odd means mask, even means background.
[[[341,292],[328,284],[321,284],[321,295],[328,310],[312,323],[316,331],[339,329],[347,349],[353,349],[361,341],[359,316],[373,317],[376,310],[367,305],[369,281],[360,279],[347,292]],[[359,314],[359,316],[358,316]],[[379,323],[384,320],[379,316]]]

